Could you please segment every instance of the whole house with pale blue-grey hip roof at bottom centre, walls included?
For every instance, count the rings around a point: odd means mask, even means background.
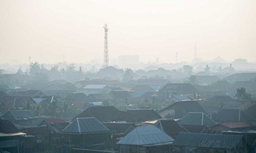
[[[133,129],[116,144],[120,153],[170,152],[173,138],[156,128],[141,126]]]

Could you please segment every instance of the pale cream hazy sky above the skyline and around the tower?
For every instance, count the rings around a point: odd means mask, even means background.
[[[0,62],[256,61],[255,0],[0,0]]]

